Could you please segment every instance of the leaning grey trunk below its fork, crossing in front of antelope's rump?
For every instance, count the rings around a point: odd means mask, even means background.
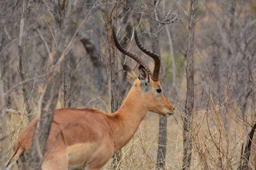
[[[58,101],[59,90],[61,86],[61,71],[64,64],[56,70],[55,66],[51,67],[53,72],[47,77],[44,94],[41,96],[41,106],[39,110],[39,120],[36,123],[36,131],[33,137],[31,148],[29,150],[29,167],[30,169],[41,169],[42,160],[46,150],[47,139],[51,129],[53,113]],[[38,151],[40,148],[40,151]],[[41,153],[38,153],[41,152]]]

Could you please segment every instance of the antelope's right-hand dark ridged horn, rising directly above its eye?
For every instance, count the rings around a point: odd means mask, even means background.
[[[143,51],[144,53],[147,53],[148,56],[150,56],[152,59],[154,59],[155,61],[155,67],[154,67],[154,72],[153,72],[153,76],[152,76],[152,80],[153,81],[158,81],[158,77],[159,77],[159,71],[160,71],[160,66],[161,66],[161,58],[159,55],[157,55],[154,52],[150,52],[149,50],[147,50],[140,42],[140,40],[138,39],[138,35],[137,35],[137,31],[134,30],[134,38],[136,41],[136,45],[141,49],[141,51]]]

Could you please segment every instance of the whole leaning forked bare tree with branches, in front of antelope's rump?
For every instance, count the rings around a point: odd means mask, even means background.
[[[68,41],[66,44],[65,41],[61,41],[61,39],[64,38],[64,35],[68,35],[68,29],[65,27],[65,29],[61,30],[61,23],[63,22],[64,18],[61,18],[61,16],[63,16],[63,8],[60,6],[60,4],[61,1],[54,4],[55,13],[59,14],[56,16],[56,36],[60,36],[58,37],[60,38],[58,39],[59,46],[58,48],[56,46],[55,56],[52,56],[52,53],[49,53],[49,58],[51,59],[52,63],[49,69],[49,76],[47,76],[44,93],[40,97],[39,119],[36,123],[35,134],[33,136],[28,159],[25,164],[26,169],[40,169],[41,167],[42,159],[46,150],[49,131],[51,129],[51,122],[53,120],[53,113],[56,108],[59,90],[63,81],[63,76],[61,75],[63,74],[63,70],[67,65],[65,59],[67,58],[68,53],[72,49],[75,41],[78,39],[77,33],[79,29],[81,29],[89,16],[88,14],[86,17],[84,17],[83,22],[81,22],[81,25],[79,25],[72,35],[70,41]],[[47,47],[46,43],[45,46]]]

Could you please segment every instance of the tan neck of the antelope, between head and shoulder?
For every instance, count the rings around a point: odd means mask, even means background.
[[[116,141],[116,150],[130,141],[148,112],[140,93],[142,92],[133,86],[122,106],[112,114],[110,125]]]

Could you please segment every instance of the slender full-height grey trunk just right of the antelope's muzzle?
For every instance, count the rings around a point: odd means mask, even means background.
[[[192,118],[194,108],[194,64],[193,64],[193,50],[195,37],[195,18],[196,18],[197,0],[190,0],[189,10],[189,38],[188,49],[186,52],[187,67],[187,97],[185,105],[185,117],[183,120],[183,164],[182,169],[189,169],[191,165],[192,154]]]

